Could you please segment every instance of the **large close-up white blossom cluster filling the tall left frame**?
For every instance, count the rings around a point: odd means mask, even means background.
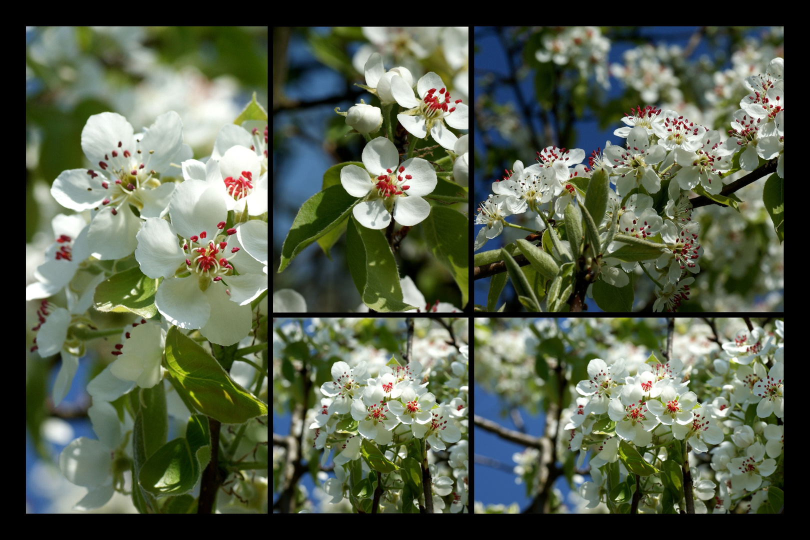
[[[60,459],[66,478],[88,488],[77,505],[87,509],[123,491],[133,419],[111,403],[136,386],[161,384],[167,333],[198,331],[203,341],[231,346],[254,328],[267,289],[267,126],[225,125],[202,161],[173,111],[139,134],[122,115],[100,113],[87,119],[81,145],[90,168],[62,172],[50,190],[76,213],[53,219],[56,240],[26,299],[41,300],[32,351],[62,355],[54,406],[70,390],[86,343],[120,336],[109,345],[109,365],[87,385],[99,440],[80,437]],[[66,307],[58,305],[63,296]],[[137,318],[100,330],[91,307]]]

